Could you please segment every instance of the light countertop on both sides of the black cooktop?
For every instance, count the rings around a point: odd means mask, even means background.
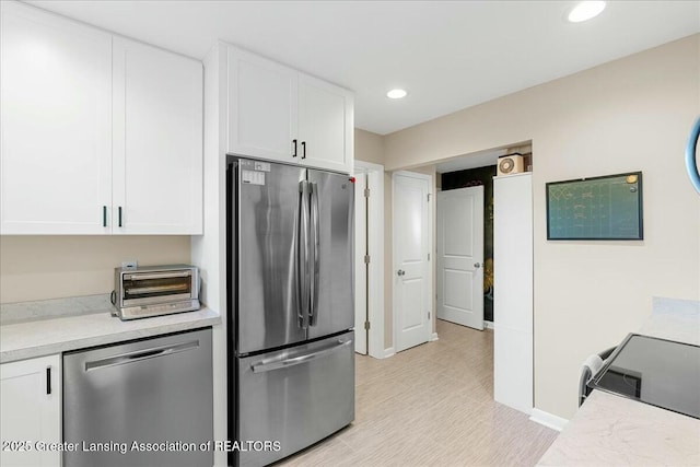
[[[654,299],[638,334],[700,345],[700,302]],[[593,390],[539,466],[700,466],[700,420]]]

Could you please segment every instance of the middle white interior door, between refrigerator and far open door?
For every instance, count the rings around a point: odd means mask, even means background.
[[[396,351],[427,342],[432,277],[430,176],[400,172],[393,177],[394,316]]]

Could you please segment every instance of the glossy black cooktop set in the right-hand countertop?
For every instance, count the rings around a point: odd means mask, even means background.
[[[700,347],[630,334],[588,386],[700,419]]]

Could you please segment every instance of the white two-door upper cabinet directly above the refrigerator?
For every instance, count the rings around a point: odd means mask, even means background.
[[[229,46],[230,154],[351,173],[350,91]]]

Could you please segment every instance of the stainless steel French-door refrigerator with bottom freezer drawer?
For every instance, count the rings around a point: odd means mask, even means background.
[[[231,465],[261,466],[354,419],[353,179],[230,156]]]

